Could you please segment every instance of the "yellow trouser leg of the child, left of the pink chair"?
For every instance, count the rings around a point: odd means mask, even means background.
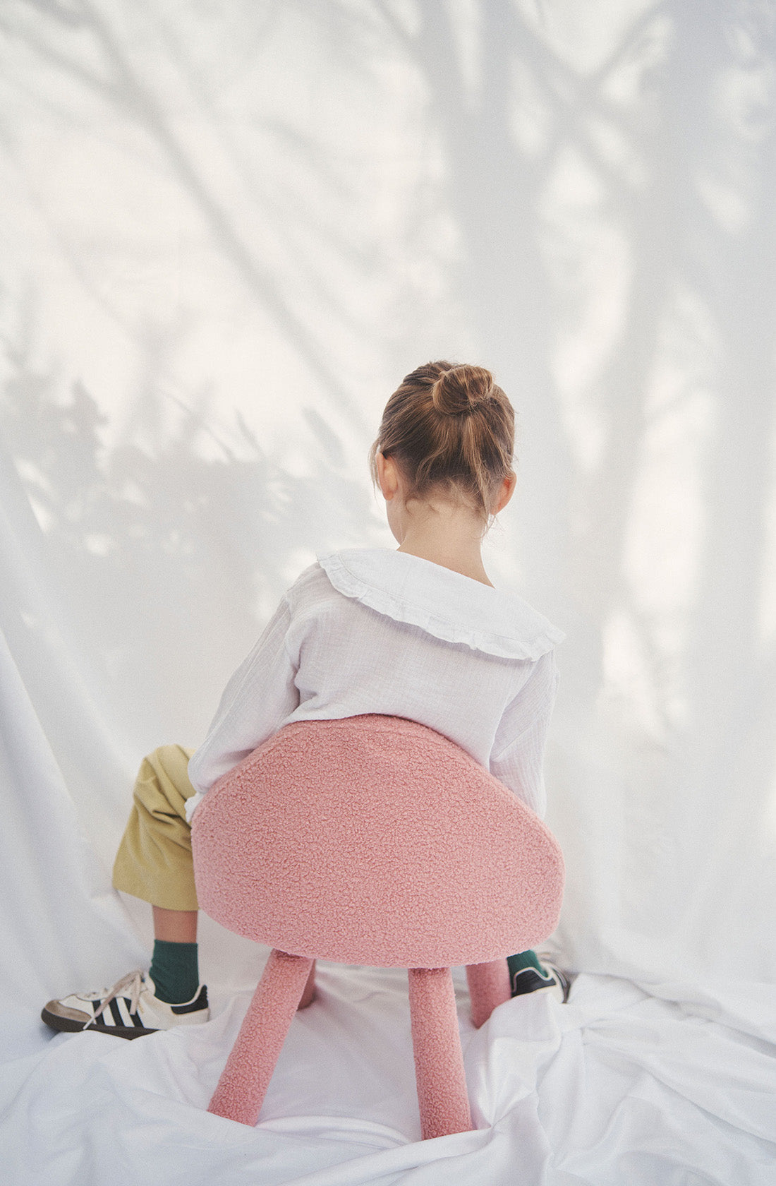
[[[198,908],[184,806],[194,793],[187,772],[193,752],[165,745],[143,758],[114,865],[116,890],[166,910]]]

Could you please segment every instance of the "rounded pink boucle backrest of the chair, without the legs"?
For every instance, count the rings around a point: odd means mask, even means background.
[[[404,968],[544,940],[563,856],[541,821],[425,726],[286,726],[225,774],[192,829],[201,908],[294,955]]]

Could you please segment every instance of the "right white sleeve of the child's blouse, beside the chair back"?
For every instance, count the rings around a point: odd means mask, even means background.
[[[490,753],[490,773],[538,816],[544,816],[547,805],[543,761],[557,690],[554,651],[547,651],[507,704]]]

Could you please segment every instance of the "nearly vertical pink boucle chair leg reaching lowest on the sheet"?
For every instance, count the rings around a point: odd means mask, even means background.
[[[449,968],[410,968],[410,1018],[423,1140],[468,1133],[472,1111]]]

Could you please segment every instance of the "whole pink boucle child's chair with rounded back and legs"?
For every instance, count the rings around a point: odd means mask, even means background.
[[[316,957],[408,968],[423,1137],[472,1115],[450,967],[475,1026],[506,956],[554,930],[552,833],[453,741],[397,716],[287,725],[207,793],[192,827],[203,910],[272,951],[210,1111],[255,1124]]]

